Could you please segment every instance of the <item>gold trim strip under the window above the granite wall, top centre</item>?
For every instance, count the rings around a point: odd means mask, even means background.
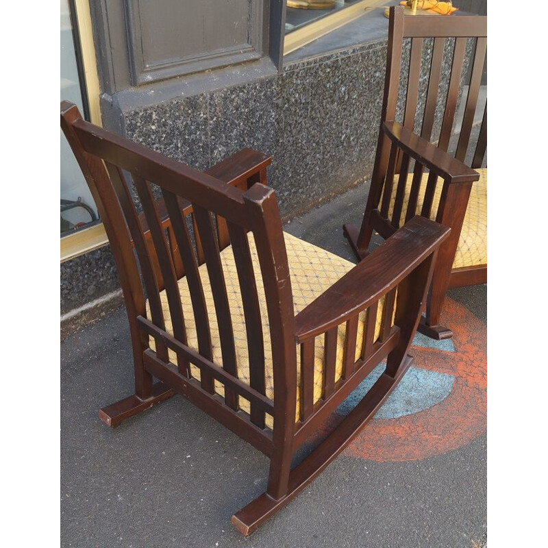
[[[366,10],[369,10],[376,5],[380,5],[386,2],[386,0],[362,0],[353,5],[349,5],[344,10],[338,10],[332,15],[321,18],[319,21],[314,21],[310,25],[306,25],[301,29],[297,29],[284,38],[284,55],[299,49],[299,47],[306,46],[320,38],[329,32],[346,25],[350,21],[362,16]]]

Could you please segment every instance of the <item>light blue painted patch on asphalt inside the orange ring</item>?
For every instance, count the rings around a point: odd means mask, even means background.
[[[349,414],[382,375],[384,367],[385,364],[377,365],[356,390],[338,406],[336,412],[342,415]],[[447,375],[447,373],[427,371],[410,366],[394,392],[375,414],[375,419],[397,419],[399,416],[418,413],[435,406],[436,403],[440,403],[449,395],[454,378],[453,375]]]

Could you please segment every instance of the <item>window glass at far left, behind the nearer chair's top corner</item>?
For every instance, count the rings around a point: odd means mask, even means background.
[[[61,100],[71,101],[84,115],[69,0],[61,0]],[[97,221],[97,208],[73,151],[61,132],[61,235]]]

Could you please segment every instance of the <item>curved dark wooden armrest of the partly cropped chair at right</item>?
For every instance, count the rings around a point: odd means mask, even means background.
[[[384,133],[406,154],[420,162],[449,183],[474,182],[479,173],[449,155],[443,149],[432,145],[397,122],[384,122]]]

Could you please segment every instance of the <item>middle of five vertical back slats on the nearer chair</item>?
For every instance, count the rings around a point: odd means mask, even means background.
[[[192,301],[192,310],[194,311],[194,321],[198,337],[198,351],[204,358],[212,360],[210,323],[208,316],[208,307],[203,295],[201,277],[198,271],[196,256],[188,233],[188,226],[184,220],[177,197],[169,190],[162,188],[164,203],[173,227],[173,235],[177,241],[177,250],[182,260],[186,272],[186,281],[190,291],[190,301]],[[207,371],[200,373],[201,387],[208,393],[214,393],[213,377]]]

